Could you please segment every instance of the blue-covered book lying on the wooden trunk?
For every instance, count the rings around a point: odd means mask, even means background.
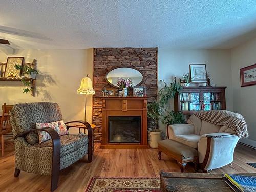
[[[224,181],[237,192],[256,191],[256,176],[223,174]]]

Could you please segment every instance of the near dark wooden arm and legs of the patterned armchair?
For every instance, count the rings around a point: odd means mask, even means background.
[[[45,131],[47,132],[52,139],[52,179],[51,179],[51,191],[54,191],[58,186],[59,179],[59,169],[60,169],[60,138],[57,131],[48,127],[44,129],[31,129],[29,131],[23,132],[21,134],[16,135],[13,139],[17,139],[18,137],[23,137],[30,132],[34,131]],[[15,169],[14,177],[18,177],[20,173],[19,169]]]

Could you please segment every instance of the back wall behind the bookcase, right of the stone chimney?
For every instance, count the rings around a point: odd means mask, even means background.
[[[171,82],[173,76],[177,81],[185,72],[189,72],[189,64],[206,64],[210,73],[211,84],[227,86],[226,106],[233,110],[231,88],[230,50],[228,49],[158,49],[158,89],[161,88],[161,79]],[[170,102],[173,109],[173,101]],[[165,130],[165,126],[161,125]]]

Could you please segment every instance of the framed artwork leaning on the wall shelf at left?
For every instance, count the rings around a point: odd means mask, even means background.
[[[15,69],[15,65],[23,65],[24,57],[7,57],[5,66],[5,78],[15,78],[20,75],[20,69]]]

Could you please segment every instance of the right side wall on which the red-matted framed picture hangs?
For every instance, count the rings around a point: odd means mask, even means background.
[[[231,50],[232,87],[234,112],[243,115],[248,126],[248,139],[240,142],[256,147],[256,85],[240,86],[240,68],[256,63],[256,39]]]

